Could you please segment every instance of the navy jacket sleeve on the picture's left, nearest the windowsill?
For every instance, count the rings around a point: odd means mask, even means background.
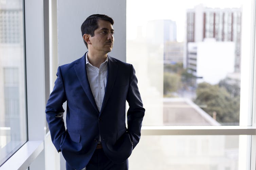
[[[61,136],[66,132],[63,121],[64,109],[62,104],[67,99],[60,67],[58,67],[56,75],[57,79],[54,83],[53,91],[50,94],[49,100],[46,104],[45,113],[51,133],[52,142],[57,151],[60,151]]]

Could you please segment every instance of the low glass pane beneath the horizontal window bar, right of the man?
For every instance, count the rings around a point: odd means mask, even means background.
[[[239,152],[241,136],[142,136],[129,157],[132,170],[246,170]],[[250,138],[250,136],[243,136]],[[250,153],[250,152],[248,152]],[[143,159],[142,159],[143,158]]]

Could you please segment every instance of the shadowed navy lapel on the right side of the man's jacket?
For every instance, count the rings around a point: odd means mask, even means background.
[[[101,110],[99,114],[102,113],[104,110],[104,107],[106,106],[106,103],[108,101],[109,95],[111,94],[111,91],[113,89],[116,75],[117,75],[118,65],[114,58],[108,56],[108,76],[107,76],[107,84],[105,89],[105,95],[102,103]]]

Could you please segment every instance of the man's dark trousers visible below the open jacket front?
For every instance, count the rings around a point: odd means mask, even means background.
[[[66,169],[75,170],[67,163]],[[121,164],[115,164],[108,159],[103,149],[96,149],[91,160],[86,165],[86,170],[128,170],[128,159]]]

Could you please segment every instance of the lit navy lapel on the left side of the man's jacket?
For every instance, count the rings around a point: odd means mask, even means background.
[[[90,84],[88,81],[88,77],[87,77],[87,71],[86,71],[86,58],[85,55],[81,58],[81,62],[77,63],[77,65],[75,66],[75,72],[76,75],[88,97],[88,99],[90,100],[92,106],[94,107],[94,109],[97,111],[97,113],[99,113],[97,105],[95,103],[94,97],[92,95],[92,91],[90,88]]]

